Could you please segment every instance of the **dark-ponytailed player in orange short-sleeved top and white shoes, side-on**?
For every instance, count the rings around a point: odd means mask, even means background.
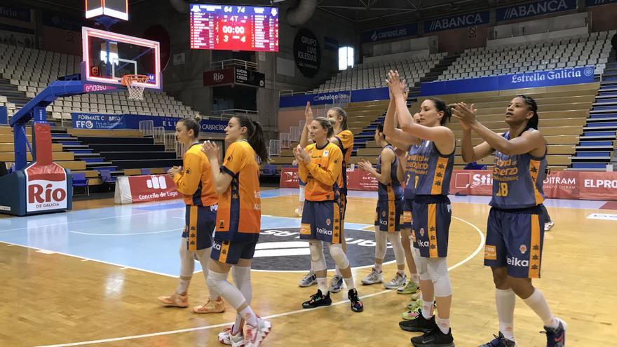
[[[269,159],[259,123],[247,116],[234,116],[225,133],[229,147],[222,166],[216,144],[205,142],[202,149],[212,165],[212,181],[219,195],[208,287],[238,312],[236,323],[219,334],[219,341],[231,346],[258,346],[269,334],[271,324],[250,307],[250,269],[262,217],[257,156],[262,163]],[[236,287],[227,281],[230,268]],[[243,322],[248,323],[246,334]]]

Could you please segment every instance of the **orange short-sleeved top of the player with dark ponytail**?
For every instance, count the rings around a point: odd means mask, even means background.
[[[231,176],[231,183],[219,196],[215,240],[256,242],[262,217],[259,164],[246,140],[229,145],[221,166],[223,172]]]

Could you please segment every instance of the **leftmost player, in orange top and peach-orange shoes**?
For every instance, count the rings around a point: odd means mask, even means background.
[[[158,297],[165,306],[187,307],[189,283],[195,267],[194,255],[201,262],[203,278],[208,278],[208,260],[212,250],[212,232],[215,230],[218,196],[212,184],[210,162],[201,152],[197,140],[200,117],[182,118],[176,123],[176,138],[187,146],[183,158],[183,169],[170,168],[168,175],[176,184],[176,189],[184,195],[187,209],[184,218],[184,231],[180,243],[180,283],[171,295]],[[220,313],[225,311],[221,297],[193,308],[195,313]]]

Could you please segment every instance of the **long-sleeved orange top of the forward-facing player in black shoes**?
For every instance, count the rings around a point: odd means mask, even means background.
[[[339,200],[343,185],[341,168],[343,153],[336,144],[328,142],[325,147],[309,144],[304,149],[311,157],[311,163],[298,165],[299,179],[306,182],[304,198],[308,201]]]

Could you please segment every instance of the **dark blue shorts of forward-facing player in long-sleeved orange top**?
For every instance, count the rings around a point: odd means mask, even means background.
[[[336,201],[308,201],[302,210],[301,240],[341,243],[341,207]]]

